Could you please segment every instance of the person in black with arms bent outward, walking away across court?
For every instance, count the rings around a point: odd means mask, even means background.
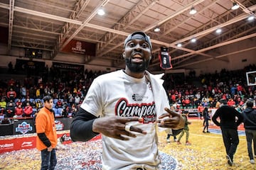
[[[220,122],[217,120],[220,118]],[[228,159],[228,164],[233,165],[233,157],[235,151],[238,147],[238,125],[242,123],[242,114],[239,113],[232,106],[227,105],[225,99],[220,100],[220,108],[213,115],[213,123],[220,126],[223,142],[225,145],[225,151],[227,153],[226,158]]]

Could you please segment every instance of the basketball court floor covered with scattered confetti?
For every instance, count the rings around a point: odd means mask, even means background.
[[[166,142],[166,133],[159,132],[159,154],[161,170],[244,170],[256,169],[250,164],[247,156],[247,142],[245,135],[240,135],[240,143],[234,157],[234,165],[229,166],[225,159],[225,148],[220,133],[203,133],[203,120],[191,120],[189,125],[189,141],[192,145],[185,145],[185,135],[181,138],[181,145],[177,145],[171,138]],[[73,142],[60,145],[57,150],[58,164],[56,169],[101,169],[101,140],[90,142]],[[26,149],[0,154],[0,169],[34,170],[40,169],[41,158],[37,149]]]

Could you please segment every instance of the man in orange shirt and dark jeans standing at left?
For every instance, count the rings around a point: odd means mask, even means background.
[[[55,168],[58,139],[52,110],[53,98],[45,96],[43,101],[45,106],[36,115],[36,148],[41,151],[41,170]]]

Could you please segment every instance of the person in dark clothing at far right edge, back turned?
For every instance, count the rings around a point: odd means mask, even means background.
[[[250,157],[250,163],[255,164],[255,160],[252,154],[252,141],[253,141],[254,155],[256,155],[256,110],[252,108],[253,106],[252,101],[247,101],[246,106],[247,108],[245,108],[245,110],[242,111],[242,115],[244,117],[245,135],[247,140],[247,151]]]

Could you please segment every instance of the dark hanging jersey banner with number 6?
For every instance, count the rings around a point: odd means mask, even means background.
[[[161,47],[159,53],[160,67],[162,69],[171,69],[171,56],[168,53],[168,47]]]

